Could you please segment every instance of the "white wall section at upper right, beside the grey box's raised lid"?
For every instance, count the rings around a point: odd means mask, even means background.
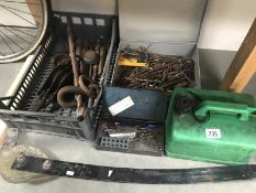
[[[237,51],[256,17],[256,0],[209,0],[200,49]]]

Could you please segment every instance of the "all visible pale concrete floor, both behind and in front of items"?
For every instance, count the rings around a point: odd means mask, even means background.
[[[210,54],[212,52],[212,54]],[[214,55],[215,54],[215,55]],[[220,60],[220,53],[215,51],[200,51],[201,66],[202,66],[202,81],[203,87],[210,88],[212,83],[216,83],[213,88],[218,87],[218,83],[222,78],[225,69],[233,58],[232,53],[223,54]],[[219,57],[218,57],[219,56]],[[210,61],[210,62],[209,62]],[[215,62],[214,62],[215,61]],[[220,63],[221,61],[221,63]],[[0,65],[0,81],[1,81],[1,96],[5,95],[11,84],[13,74],[21,68],[20,65]],[[212,71],[210,69],[212,67]],[[3,69],[3,67],[7,67]],[[10,77],[10,79],[9,79]],[[208,78],[207,78],[208,77]],[[4,83],[4,84],[2,84]],[[210,86],[209,86],[210,85]],[[249,86],[248,93],[255,94],[255,84]],[[246,88],[247,89],[247,88]],[[92,142],[77,141],[74,139],[66,139],[55,136],[38,135],[38,133],[21,133],[19,143],[26,143],[38,147],[53,158],[65,161],[88,163],[88,164],[102,164],[110,167],[126,167],[126,168],[149,168],[149,169],[172,169],[172,168],[196,168],[196,167],[212,167],[215,164],[194,162],[188,160],[179,160],[171,158],[157,158],[148,156],[125,154],[116,152],[97,151]],[[79,193],[79,192],[122,192],[122,193],[148,193],[148,192],[197,192],[197,193],[253,193],[256,190],[256,181],[235,181],[235,182],[221,182],[221,183],[201,183],[201,184],[187,184],[187,185],[143,185],[143,184],[122,184],[110,182],[97,182],[76,180],[67,178],[58,178],[52,182],[43,184],[10,184],[0,178],[0,193],[43,193],[43,192],[63,192],[63,193]]]

